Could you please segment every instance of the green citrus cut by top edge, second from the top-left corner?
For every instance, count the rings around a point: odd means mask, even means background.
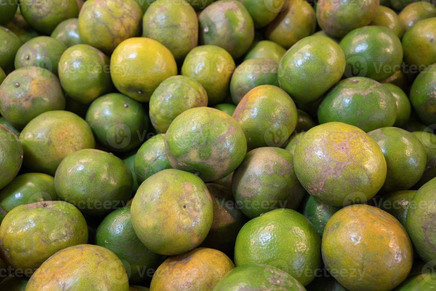
[[[42,5],[44,9],[41,9]],[[44,4],[31,0],[20,3],[20,12],[34,29],[43,34],[51,34],[65,19],[77,17],[79,8],[76,0],[53,0]]]

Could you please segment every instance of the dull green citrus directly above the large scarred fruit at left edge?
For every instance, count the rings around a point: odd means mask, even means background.
[[[15,55],[15,68],[38,66],[58,75],[58,63],[67,47],[56,38],[38,36],[22,45]]]

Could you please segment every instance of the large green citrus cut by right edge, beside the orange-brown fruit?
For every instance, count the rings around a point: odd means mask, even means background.
[[[435,191],[436,178],[433,178],[419,188],[413,196],[406,217],[407,233],[416,252],[424,262],[436,259]]]

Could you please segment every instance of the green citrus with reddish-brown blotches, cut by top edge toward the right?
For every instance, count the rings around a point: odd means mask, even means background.
[[[364,0],[359,5],[352,0],[320,0],[317,3],[317,20],[321,29],[334,38],[371,23],[378,12],[379,1]]]

